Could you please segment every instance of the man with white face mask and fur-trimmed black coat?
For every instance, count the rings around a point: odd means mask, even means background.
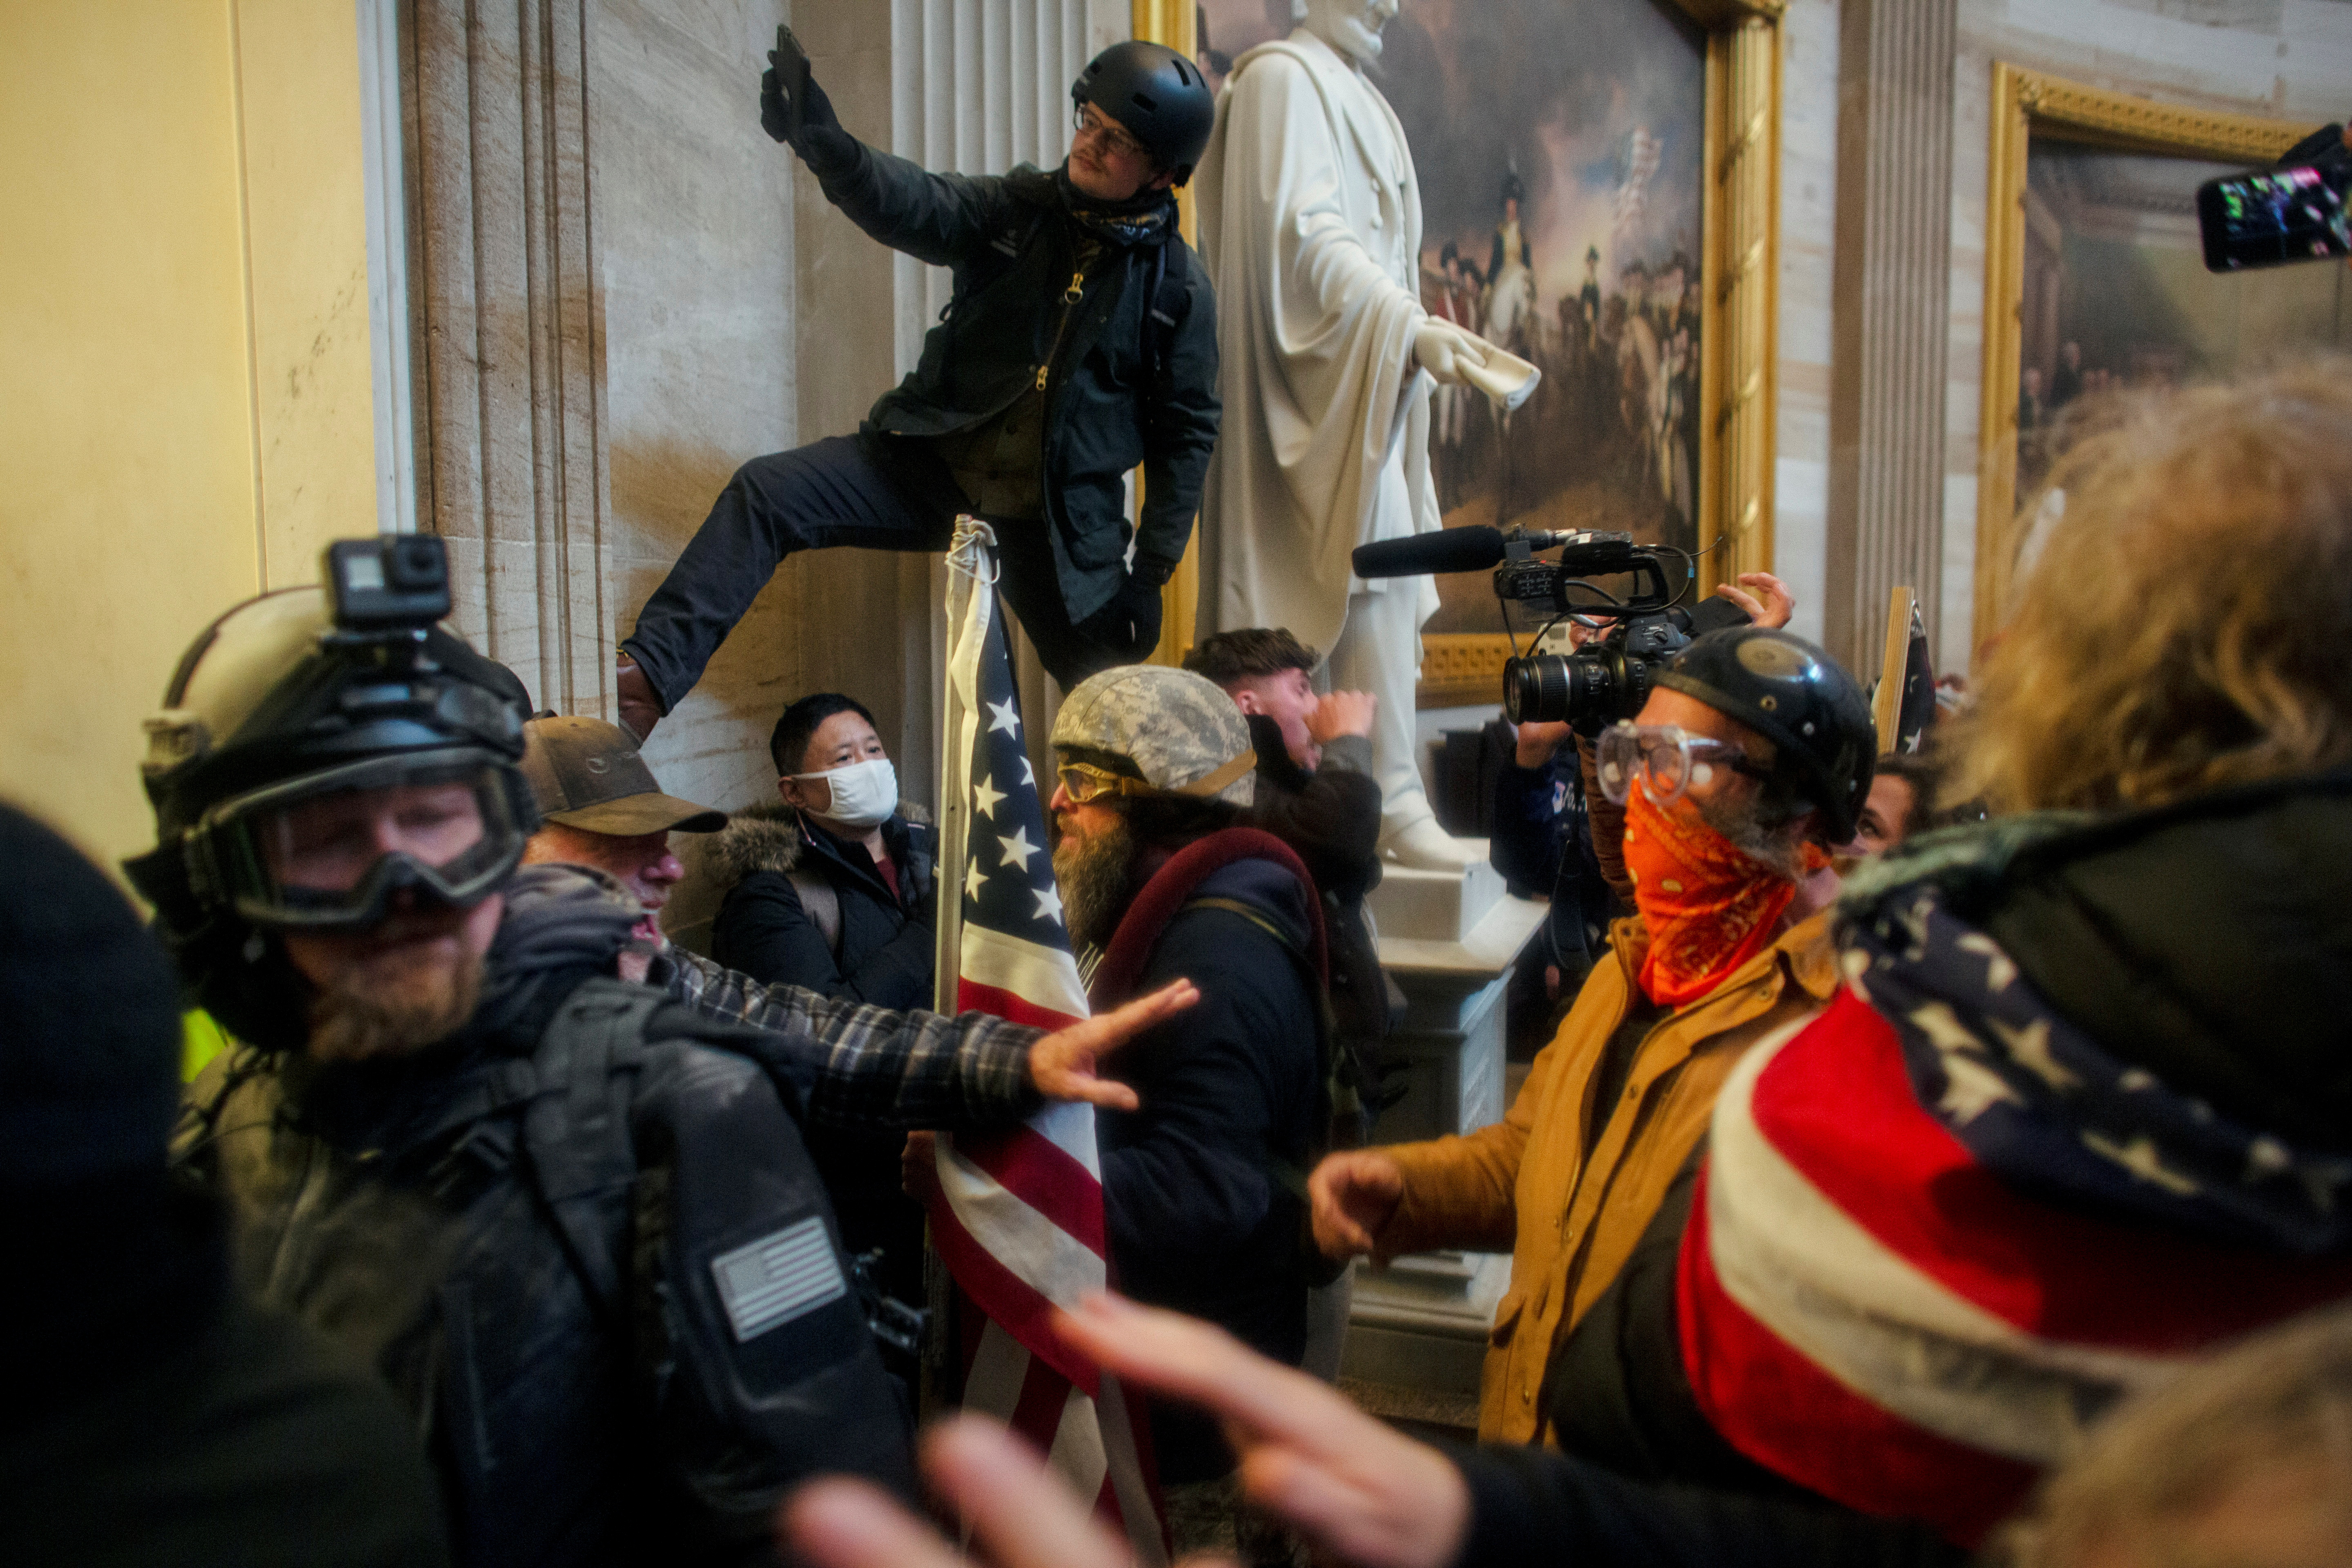
[[[727,898],[720,964],[887,1009],[931,1004],[938,830],[898,802],[873,715],[837,691],[804,696],[769,736],[774,806],[736,811],[710,863]],[[922,1208],[898,1192],[889,1131],[823,1128],[809,1157],[849,1251],[882,1248],[882,1288],[922,1305]]]

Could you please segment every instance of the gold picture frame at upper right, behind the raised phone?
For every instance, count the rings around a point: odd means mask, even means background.
[[[1992,66],[1992,155],[1985,195],[1985,378],[1976,449],[1976,609],[1983,646],[2009,614],[2018,552],[2018,376],[2025,341],[2025,148],[2034,136],[2122,153],[2272,162],[2310,125],[2180,108],[2070,82],[2004,61]]]

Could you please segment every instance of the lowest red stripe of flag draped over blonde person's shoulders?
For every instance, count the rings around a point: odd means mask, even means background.
[[[1915,1427],[1830,1378],[1724,1291],[1708,1251],[1708,1171],[1675,1276],[1682,1368],[1708,1422],[1757,1465],[1865,1514],[1959,1542],[1999,1523],[2034,1469]]]

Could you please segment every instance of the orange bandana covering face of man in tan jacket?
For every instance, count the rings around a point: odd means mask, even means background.
[[[1818,851],[1806,844],[1806,870]],[[1658,1006],[1698,1001],[1722,985],[1771,945],[1797,900],[1795,882],[1715,832],[1691,802],[1661,811],[1639,783],[1625,797],[1625,870],[1649,926],[1642,990]]]

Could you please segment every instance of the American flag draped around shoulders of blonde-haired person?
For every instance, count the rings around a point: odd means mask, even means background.
[[[2107,1406],[2345,1300],[2352,1260],[2319,1164],[2232,1147],[2211,1107],[2074,1037],[1985,933],[1940,924],[1943,994],[1849,947],[1828,1011],[1740,1058],[1675,1316],[1733,1448],[1973,1547]]]

